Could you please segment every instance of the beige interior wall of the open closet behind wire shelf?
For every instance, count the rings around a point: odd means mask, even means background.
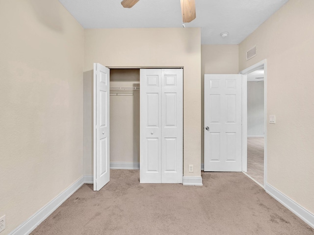
[[[110,87],[139,87],[139,69],[110,69]],[[110,163],[138,164],[139,90],[110,91]]]

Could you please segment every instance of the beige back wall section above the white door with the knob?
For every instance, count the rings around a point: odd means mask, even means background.
[[[204,163],[204,74],[239,71],[238,45],[202,45],[202,163]]]

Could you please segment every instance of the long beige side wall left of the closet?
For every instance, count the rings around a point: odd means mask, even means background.
[[[84,31],[57,0],[1,0],[0,29],[7,235],[83,175]]]

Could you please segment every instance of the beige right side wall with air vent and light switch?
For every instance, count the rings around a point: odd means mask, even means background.
[[[267,59],[267,183],[314,213],[314,1],[289,0],[239,45]],[[257,45],[257,56],[245,53]]]

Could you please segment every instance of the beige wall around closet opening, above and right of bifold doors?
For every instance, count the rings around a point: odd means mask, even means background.
[[[84,71],[92,70],[94,62],[107,67],[184,67],[183,172],[201,176],[200,28],[86,29],[84,48]],[[194,173],[188,173],[189,164]]]

